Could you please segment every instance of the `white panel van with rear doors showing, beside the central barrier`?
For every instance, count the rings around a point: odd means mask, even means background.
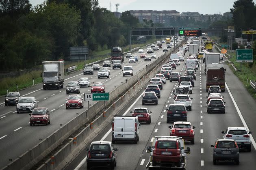
[[[112,122],[112,143],[118,140],[139,141],[138,116],[115,116]]]

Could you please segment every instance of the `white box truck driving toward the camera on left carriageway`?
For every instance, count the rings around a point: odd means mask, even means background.
[[[43,90],[64,86],[64,61],[43,61]]]

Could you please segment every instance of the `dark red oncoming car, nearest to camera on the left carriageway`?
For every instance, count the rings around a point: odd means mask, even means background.
[[[35,124],[50,124],[50,114],[48,108],[34,108],[30,115],[30,126]]]

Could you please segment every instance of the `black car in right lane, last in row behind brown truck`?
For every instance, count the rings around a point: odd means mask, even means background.
[[[222,99],[210,99],[207,105],[207,113],[221,112],[225,113],[225,104]]]

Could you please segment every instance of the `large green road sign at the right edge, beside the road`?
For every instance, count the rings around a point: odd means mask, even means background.
[[[253,49],[236,49],[236,62],[253,62]]]

